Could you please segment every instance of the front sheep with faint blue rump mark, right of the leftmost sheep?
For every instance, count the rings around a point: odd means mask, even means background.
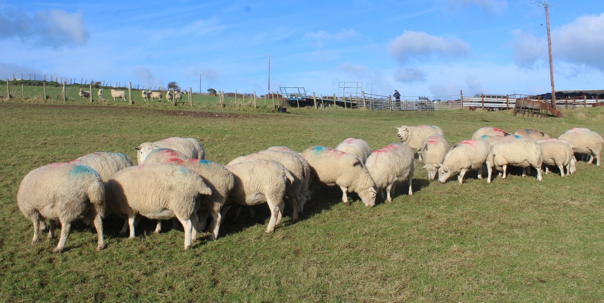
[[[146,164],[118,171],[105,186],[108,208],[126,216],[130,238],[137,214],[156,220],[178,218],[184,229],[184,249],[197,238],[198,196],[211,195],[199,174],[174,164]]]

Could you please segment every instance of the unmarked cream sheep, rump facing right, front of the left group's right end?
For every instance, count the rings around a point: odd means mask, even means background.
[[[283,165],[272,160],[246,160],[225,168],[234,176],[233,190],[229,193],[222,215],[231,206],[259,205],[267,203],[271,210],[271,219],[266,226],[266,233],[274,231],[281,222],[285,203],[283,196],[286,182],[292,182],[294,177]]]

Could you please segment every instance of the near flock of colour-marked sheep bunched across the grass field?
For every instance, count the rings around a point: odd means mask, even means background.
[[[152,95],[153,93],[151,93]],[[371,152],[367,142],[349,138],[336,148],[315,146],[298,153],[275,146],[242,156],[227,165],[205,160],[204,147],[193,138],[172,137],[145,142],[137,149],[138,165],[121,153],[91,153],[70,162],[53,163],[28,173],[19,186],[17,203],[33,222],[36,243],[48,219],[48,237],[60,222],[61,236],[54,252],[60,252],[74,220],[83,218],[97,230],[97,249],[104,248],[102,218],[109,214],[124,219],[120,233],[135,237],[141,216],[157,220],[176,218],[184,228],[184,249],[196,241],[197,232],[206,229],[210,239],[218,237],[225,213],[234,205],[266,203],[271,211],[266,232],[272,232],[283,217],[284,198],[292,205],[292,221],[313,196],[313,185],[339,186],[342,202],[349,205],[347,193],[355,192],[366,206],[374,206],[377,192],[391,202],[398,183],[408,181],[412,195],[415,171],[414,149],[428,171],[430,180],[438,174],[440,182],[458,174],[463,182],[468,170],[478,170],[487,182],[492,169],[503,172],[507,166],[537,171],[542,180],[542,165],[559,168],[561,176],[576,171],[574,154],[589,155],[600,166],[604,139],[589,129],[567,130],[559,138],[533,129],[515,134],[493,127],[478,129],[472,139],[449,146],[437,126],[397,127],[400,143]],[[566,169],[566,173],[565,173]],[[385,189],[386,195],[384,195]],[[385,197],[384,197],[385,196]]]

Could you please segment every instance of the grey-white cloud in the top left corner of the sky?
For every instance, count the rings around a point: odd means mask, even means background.
[[[0,13],[0,39],[13,37],[39,46],[60,48],[85,45],[90,34],[82,11],[37,11],[30,16],[28,11],[6,10]]]

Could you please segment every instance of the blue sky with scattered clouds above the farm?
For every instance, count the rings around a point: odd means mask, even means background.
[[[269,83],[341,95],[342,82],[408,98],[543,94],[545,1],[532,2],[0,0],[0,77],[194,92],[201,80],[202,92],[257,95]],[[550,1],[548,13],[556,91],[604,89],[604,1]]]

